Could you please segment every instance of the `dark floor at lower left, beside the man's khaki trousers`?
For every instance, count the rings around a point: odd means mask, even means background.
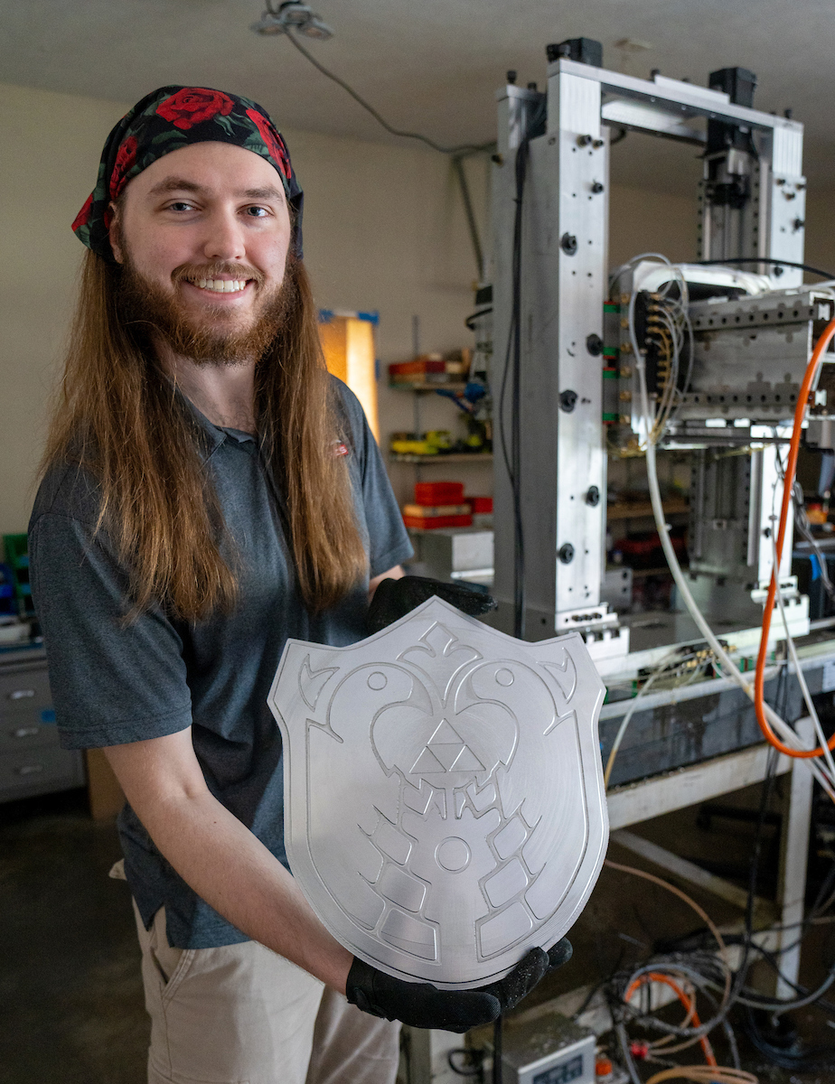
[[[150,1025],[116,827],[85,791],[0,805],[0,1084],[145,1084]]]

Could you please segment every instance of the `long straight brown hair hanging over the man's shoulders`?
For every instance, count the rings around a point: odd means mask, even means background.
[[[220,553],[228,537],[200,455],[195,422],[153,350],[120,320],[121,269],[88,253],[42,470],[80,463],[99,486],[97,530],[131,572],[133,612],[160,602],[197,621],[232,608],[237,578]],[[346,461],[345,423],[325,370],[304,264],[291,260],[294,304],[258,362],[259,440],[286,500],[299,588],[311,610],[333,606],[368,568]]]

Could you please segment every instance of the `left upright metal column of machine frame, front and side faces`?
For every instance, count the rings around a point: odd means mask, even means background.
[[[493,216],[496,592],[500,624],[508,631],[514,508],[502,434],[510,444],[510,377],[505,384],[504,376],[516,197],[512,133],[518,131],[514,118],[521,93],[508,88],[500,99],[502,164],[496,171]],[[563,72],[560,62],[550,66],[547,130],[530,142],[523,193],[519,483],[528,640],[594,624],[605,615],[600,583],[606,500],[602,337],[608,142],[601,133],[600,106],[598,80]]]

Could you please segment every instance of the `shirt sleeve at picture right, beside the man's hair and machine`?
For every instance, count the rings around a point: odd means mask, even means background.
[[[339,385],[351,427],[354,452],[358,459],[362,503],[369,531],[370,578],[409,560],[414,550],[403,525],[403,517],[391,491],[383,456],[369,427],[365,412],[344,384]]]

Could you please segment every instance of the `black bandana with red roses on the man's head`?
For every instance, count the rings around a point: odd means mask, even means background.
[[[294,250],[300,258],[304,194],[284,140],[256,102],[206,87],[160,87],[125,114],[107,137],[95,188],[73,222],[78,240],[114,262],[108,232],[111,202],[118,198],[128,181],[164,154],[207,142],[242,146],[275,169],[295,211]]]

